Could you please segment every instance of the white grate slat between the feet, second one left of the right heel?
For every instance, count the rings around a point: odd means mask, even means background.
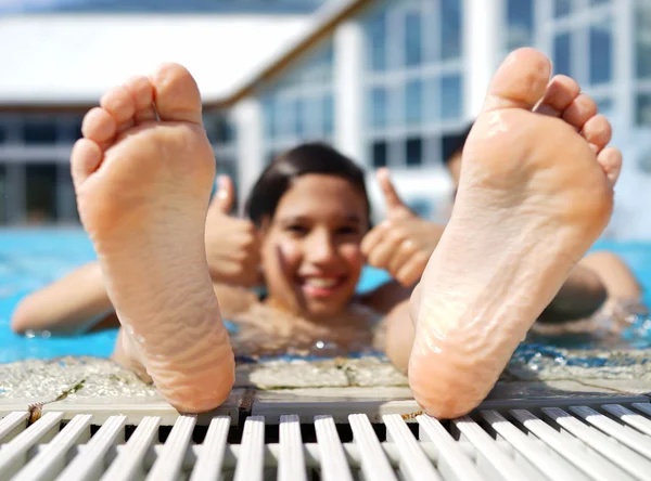
[[[361,471],[365,480],[397,481],[367,415],[352,414],[348,416],[348,422],[353,430],[353,440],[359,447]]]

